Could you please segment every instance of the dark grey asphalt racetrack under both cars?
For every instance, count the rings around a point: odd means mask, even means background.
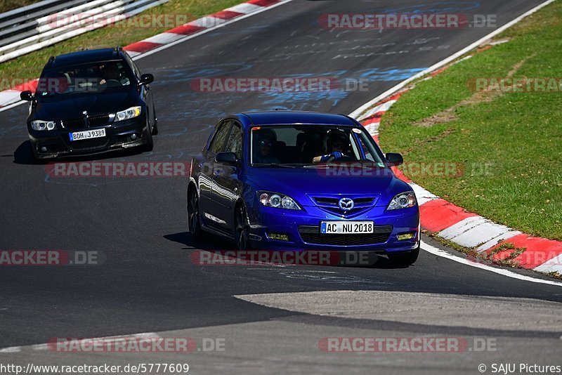
[[[540,2],[291,1],[137,60],[155,75],[154,151],[87,160],[190,162],[228,112],[348,114],[492,31],[325,29],[318,25],[322,14],[493,14],[499,27]],[[360,91],[203,93],[192,85],[202,77],[335,77],[368,85]],[[233,244],[192,241],[186,178],[49,176],[44,165],[31,162],[26,116],[27,105],[0,112],[0,249],[98,251],[105,261],[2,267],[0,348],[9,348],[0,351],[2,363],[185,362],[196,374],[477,374],[479,364],[490,372],[494,363],[561,362],[560,285],[506,277],[426,251],[409,268],[394,268],[386,258],[371,267],[196,265],[193,251]],[[225,347],[185,355],[53,353],[37,346],[56,337],[131,334],[221,338]],[[322,339],[330,337],[414,336],[462,338],[469,348],[322,350]],[[478,350],[483,340],[487,346]]]

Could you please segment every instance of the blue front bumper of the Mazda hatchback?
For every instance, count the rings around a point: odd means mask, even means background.
[[[360,216],[346,219],[332,215],[316,206],[292,211],[259,207],[250,219],[250,240],[254,249],[374,251],[379,254],[406,253],[419,246],[419,209],[387,211],[374,206]],[[325,235],[320,233],[322,221],[374,221],[369,235]],[[398,235],[414,233],[412,239],[398,240]],[[289,241],[272,239],[271,235],[288,235]]]

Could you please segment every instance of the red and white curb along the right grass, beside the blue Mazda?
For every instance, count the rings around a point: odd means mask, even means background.
[[[381,100],[360,117],[361,124],[377,140],[377,143],[381,117],[408,90],[410,88]],[[522,268],[545,273],[556,271],[562,274],[562,242],[530,237],[518,230],[494,223],[433,195],[413,183],[398,169],[393,168],[393,170],[398,178],[412,186],[418,199],[422,228],[455,244],[476,249],[481,254],[490,254],[502,244],[513,244],[515,248],[526,249],[513,259]],[[499,251],[493,259],[506,258],[511,251],[513,249]]]

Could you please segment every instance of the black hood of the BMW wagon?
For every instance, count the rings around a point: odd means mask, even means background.
[[[71,94],[67,96],[51,96],[39,98],[34,108],[34,119],[45,121],[83,117],[88,114],[105,114],[126,110],[138,105],[136,90],[112,91],[97,94]]]

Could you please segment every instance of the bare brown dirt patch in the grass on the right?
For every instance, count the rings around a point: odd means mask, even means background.
[[[507,73],[507,78],[511,78],[516,74],[516,72],[525,64],[525,62],[532,58],[535,55],[530,55],[523,60],[519,61],[511,67],[511,70]],[[497,88],[493,86],[488,86],[482,91],[476,91],[473,93],[470,98],[461,100],[459,103],[453,105],[452,107],[447,108],[437,114],[433,114],[431,117],[427,117],[426,119],[416,121],[412,125],[414,126],[422,126],[422,127],[429,127],[436,124],[444,124],[446,122],[454,121],[457,119],[457,109],[460,107],[465,107],[467,105],[476,105],[478,103],[488,103],[492,100],[495,100],[498,96],[502,96],[503,93]]]

